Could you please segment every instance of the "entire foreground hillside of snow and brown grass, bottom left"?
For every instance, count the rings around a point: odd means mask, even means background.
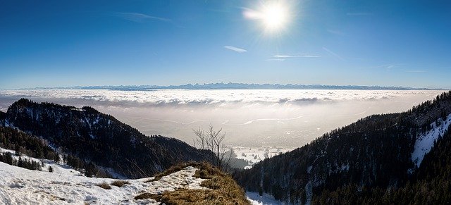
[[[180,165],[155,178],[137,180],[87,178],[54,161],[45,161],[44,166],[52,166],[54,172],[27,170],[0,162],[1,203],[249,204],[230,176],[207,164]]]

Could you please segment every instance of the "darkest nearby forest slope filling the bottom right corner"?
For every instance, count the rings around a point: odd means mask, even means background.
[[[447,132],[404,185],[387,190],[350,183],[336,190],[323,190],[311,204],[449,204],[450,201],[451,133]]]

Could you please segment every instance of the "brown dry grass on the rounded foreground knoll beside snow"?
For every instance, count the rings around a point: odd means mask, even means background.
[[[210,190],[187,190],[179,189],[173,192],[164,192],[161,195],[149,194],[149,198],[160,201],[163,204],[249,204],[245,197],[245,192],[237,185],[230,175],[214,168],[209,163],[183,163],[159,174],[159,178],[164,175],[175,173],[187,166],[199,168],[194,174],[195,178],[207,179],[201,186]],[[143,194],[141,194],[143,195]],[[139,195],[140,196],[140,195]],[[137,196],[137,197],[139,197]],[[136,197],[135,197],[136,199]]]

